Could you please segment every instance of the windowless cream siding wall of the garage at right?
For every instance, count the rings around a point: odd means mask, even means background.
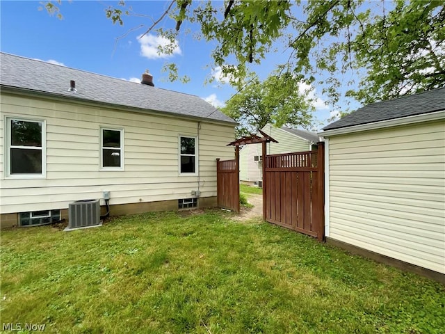
[[[330,238],[445,273],[445,121],[329,138]]]

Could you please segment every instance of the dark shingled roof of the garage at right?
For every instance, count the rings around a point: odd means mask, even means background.
[[[354,125],[393,120],[442,110],[445,110],[445,88],[437,88],[419,94],[398,97],[394,100],[368,104],[350,113],[348,116],[323,127],[323,130],[353,127]]]

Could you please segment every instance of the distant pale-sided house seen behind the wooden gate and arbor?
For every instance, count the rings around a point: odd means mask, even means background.
[[[305,152],[316,150],[320,138],[315,132],[290,127],[274,127],[267,124],[261,131],[278,143],[268,143],[266,154]],[[240,180],[243,184],[261,186],[262,180],[261,144],[245,145],[239,152]]]

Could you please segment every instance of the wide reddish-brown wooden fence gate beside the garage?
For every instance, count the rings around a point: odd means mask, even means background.
[[[323,240],[324,143],[318,150],[266,155],[264,219]]]

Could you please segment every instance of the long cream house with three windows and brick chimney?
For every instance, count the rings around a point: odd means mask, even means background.
[[[236,123],[200,97],[0,54],[1,226],[216,204]]]

